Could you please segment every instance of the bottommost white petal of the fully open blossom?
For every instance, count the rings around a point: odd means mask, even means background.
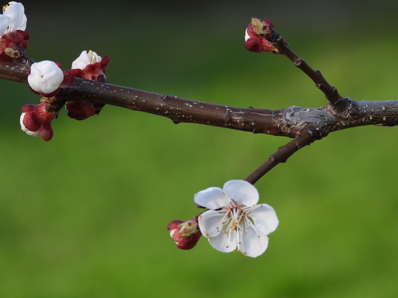
[[[268,237],[258,234],[254,226],[249,225],[246,234],[243,234],[242,240],[238,243],[238,250],[248,257],[258,257],[268,247]]]

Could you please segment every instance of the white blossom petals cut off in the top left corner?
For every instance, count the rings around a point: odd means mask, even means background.
[[[20,2],[8,2],[10,5],[3,6],[3,14],[0,15],[0,33],[12,30],[26,29],[25,8]]]

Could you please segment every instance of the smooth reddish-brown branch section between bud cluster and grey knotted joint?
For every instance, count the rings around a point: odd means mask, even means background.
[[[190,101],[138,89],[75,78],[64,89],[65,100],[86,99],[170,118],[173,123],[197,123],[253,133],[280,135],[279,110],[237,108]]]

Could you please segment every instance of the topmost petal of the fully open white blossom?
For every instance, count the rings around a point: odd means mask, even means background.
[[[238,205],[256,205],[258,202],[258,190],[252,184],[245,180],[230,180],[223,186],[228,197]]]

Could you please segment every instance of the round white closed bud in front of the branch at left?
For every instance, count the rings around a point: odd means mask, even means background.
[[[55,62],[48,60],[33,63],[27,77],[29,86],[39,93],[55,91],[63,80],[62,70]]]

